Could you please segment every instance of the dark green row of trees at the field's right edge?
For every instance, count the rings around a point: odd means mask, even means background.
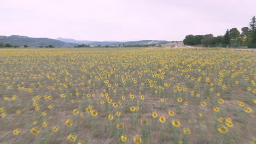
[[[252,17],[249,27],[241,28],[241,33],[237,28],[227,29],[224,35],[214,37],[213,34],[206,35],[186,35],[183,40],[184,45],[202,45],[206,47],[239,47],[248,46],[256,48],[256,19]]]

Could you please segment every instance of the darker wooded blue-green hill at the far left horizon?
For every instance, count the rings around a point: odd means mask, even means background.
[[[7,36],[0,36],[0,43],[3,44],[11,44],[17,46],[24,46],[28,45],[30,47],[39,47],[39,46],[49,46],[53,45],[55,47],[73,47],[77,44],[72,43],[65,43],[60,40],[56,39],[49,39],[49,38],[30,38],[20,35],[11,35]]]

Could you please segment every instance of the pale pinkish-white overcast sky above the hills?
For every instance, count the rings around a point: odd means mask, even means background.
[[[183,40],[248,26],[256,0],[1,0],[0,35]]]

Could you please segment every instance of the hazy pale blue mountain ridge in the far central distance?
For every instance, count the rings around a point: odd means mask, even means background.
[[[85,44],[91,46],[118,46],[118,45],[149,45],[149,44],[166,44],[171,43],[172,41],[166,40],[139,40],[139,41],[88,41],[88,40],[75,40],[75,39],[65,39],[65,38],[57,38],[57,40],[61,40],[66,43],[74,43],[74,44]]]

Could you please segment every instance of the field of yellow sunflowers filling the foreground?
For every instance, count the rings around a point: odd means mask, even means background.
[[[255,143],[256,52],[0,49],[0,143]]]

